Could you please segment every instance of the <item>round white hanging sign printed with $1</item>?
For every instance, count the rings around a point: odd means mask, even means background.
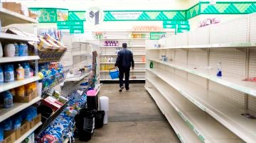
[[[104,21],[105,13],[97,7],[89,8],[85,13],[85,19],[92,25],[98,25]]]

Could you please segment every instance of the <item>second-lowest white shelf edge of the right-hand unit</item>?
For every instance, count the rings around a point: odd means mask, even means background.
[[[183,90],[181,87],[176,86],[175,84],[171,84],[169,81],[167,81],[166,79],[159,76],[156,71],[152,71],[151,69],[146,69],[146,70],[150,71],[152,74],[155,74],[161,80],[166,82],[166,84],[169,84],[171,87],[175,88],[176,91],[178,91],[178,93],[180,93],[182,96],[187,98],[194,105],[198,106],[198,108],[201,108],[201,110],[205,111],[210,116],[215,118],[215,120],[218,120],[218,122],[220,122],[222,125],[227,127],[228,130],[230,130],[231,132],[234,132],[236,135],[238,135],[238,137],[240,137],[241,139],[245,139],[246,142],[253,142],[253,138],[252,138],[253,135],[250,135],[251,138],[246,137],[246,135],[245,135],[246,134],[245,132],[246,132],[247,128],[243,128],[244,132],[242,132],[242,131],[239,130],[240,127],[239,128],[238,127],[233,127],[233,125],[235,125],[235,122],[233,122],[228,117],[226,117],[224,113],[221,113],[220,111],[218,111],[218,109],[215,109],[215,108],[211,107],[211,105],[204,105],[203,103],[201,103],[203,101],[198,101],[198,99],[194,98],[193,95],[191,95],[191,93],[188,93],[188,91]],[[215,94],[215,96],[218,96],[218,95]],[[221,96],[220,96],[220,98],[221,98]],[[245,118],[245,120],[247,120],[247,119]],[[248,121],[249,121],[249,119],[248,119]],[[241,126],[241,125],[237,125],[237,126]],[[248,132],[247,134],[250,134],[250,132]]]

